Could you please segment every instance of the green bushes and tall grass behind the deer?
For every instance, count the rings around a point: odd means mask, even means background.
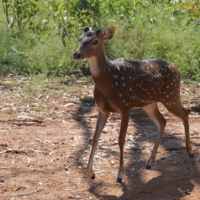
[[[117,27],[110,59],[162,57],[200,80],[200,2],[190,0],[2,0],[0,74],[89,74],[72,53],[85,26]]]

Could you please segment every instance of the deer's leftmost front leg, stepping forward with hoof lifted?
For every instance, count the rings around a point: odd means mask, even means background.
[[[94,154],[95,154],[95,151],[96,151],[96,148],[97,148],[97,144],[98,144],[98,141],[99,141],[101,131],[103,130],[103,128],[106,124],[106,121],[108,119],[109,114],[110,114],[109,112],[108,113],[102,113],[101,111],[99,111],[99,113],[98,113],[96,129],[95,129],[95,133],[94,133],[93,140],[92,140],[92,151],[90,153],[90,159],[89,159],[88,165],[87,165],[87,173],[88,173],[88,175],[91,179],[95,178],[95,174],[93,172]]]

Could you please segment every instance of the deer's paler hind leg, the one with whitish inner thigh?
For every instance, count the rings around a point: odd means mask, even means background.
[[[150,158],[147,162],[147,166],[146,166],[146,169],[150,169],[156,158],[157,149],[158,149],[158,146],[160,144],[160,141],[161,141],[164,129],[165,129],[166,120],[162,116],[160,111],[158,110],[157,103],[149,104],[149,105],[143,107],[143,109],[145,110],[146,114],[156,124],[156,126],[158,128],[158,134],[157,134],[156,141],[155,141],[155,144],[153,147],[153,151],[151,153],[151,156],[150,156]]]

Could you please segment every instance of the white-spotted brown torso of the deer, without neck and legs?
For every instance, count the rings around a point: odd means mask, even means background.
[[[164,59],[130,61],[123,58],[110,61],[110,92],[106,103],[117,108],[144,107],[153,102],[175,104],[180,100],[180,73]]]

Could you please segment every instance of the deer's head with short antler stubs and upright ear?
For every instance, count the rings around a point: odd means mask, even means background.
[[[93,56],[98,56],[102,50],[102,45],[110,40],[115,34],[115,27],[111,26],[105,31],[98,29],[93,31],[91,27],[85,27],[84,33],[79,38],[79,48],[73,54],[75,60],[88,59]]]

